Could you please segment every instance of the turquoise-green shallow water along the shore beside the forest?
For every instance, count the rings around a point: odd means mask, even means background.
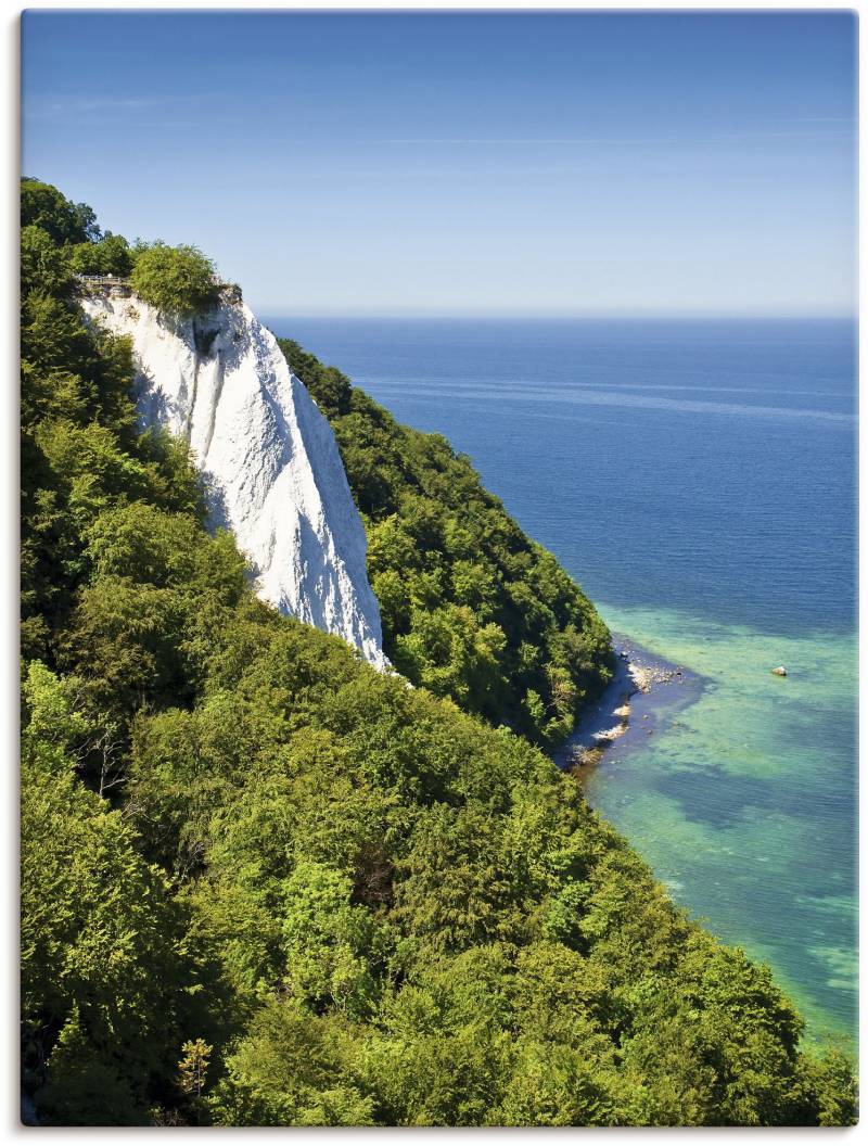
[[[855,793],[841,745],[855,738],[855,638],[601,611],[615,631],[701,674],[704,688],[676,712],[657,706],[653,738],[616,743],[585,779],[590,802],[679,903],[775,968],[812,1036],[852,1036]],[[786,678],[770,672],[779,664]]]

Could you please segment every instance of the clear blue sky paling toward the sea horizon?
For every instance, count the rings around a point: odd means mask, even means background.
[[[49,13],[23,170],[267,314],[849,314],[847,13]]]

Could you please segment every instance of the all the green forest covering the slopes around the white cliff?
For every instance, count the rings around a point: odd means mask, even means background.
[[[853,1063],[806,1046],[768,968],[673,905],[545,755],[608,680],[608,635],[467,460],[283,344],[334,426],[409,689],[258,601],[186,445],[139,427],[132,348],[84,323],[81,273],[213,299],[195,248],[131,246],[23,182],[39,1123],[853,1122]]]

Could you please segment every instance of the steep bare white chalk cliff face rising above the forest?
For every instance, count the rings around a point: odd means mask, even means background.
[[[385,667],[364,526],[334,435],[273,335],[226,291],[191,319],[161,314],[124,288],[90,291],[81,305],[132,338],[142,421],[189,442],[211,525],[232,531],[259,596]]]

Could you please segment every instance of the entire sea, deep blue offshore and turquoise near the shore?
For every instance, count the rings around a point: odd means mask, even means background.
[[[589,800],[677,902],[771,964],[811,1037],[850,1041],[854,324],[266,322],[468,454],[613,630],[702,677]]]

